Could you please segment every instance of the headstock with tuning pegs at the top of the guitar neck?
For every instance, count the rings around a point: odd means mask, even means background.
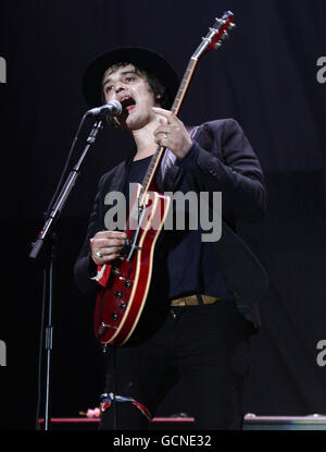
[[[223,41],[228,38],[229,32],[236,27],[236,24],[233,22],[234,19],[235,15],[230,11],[225,12],[221,19],[215,19],[214,25],[209,28],[209,33],[202,38],[202,45],[195,52],[195,59],[199,59],[212,49],[222,47]]]

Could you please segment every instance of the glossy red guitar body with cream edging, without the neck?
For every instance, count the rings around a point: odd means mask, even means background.
[[[103,344],[123,345],[138,323],[151,282],[155,243],[170,208],[170,197],[149,192],[139,221],[137,185],[125,231],[129,240],[138,233],[137,248],[112,264],[108,284],[96,300],[95,333]]]

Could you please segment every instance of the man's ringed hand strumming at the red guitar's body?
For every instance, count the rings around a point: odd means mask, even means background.
[[[92,260],[102,266],[120,256],[127,234],[120,231],[100,231],[90,240]]]

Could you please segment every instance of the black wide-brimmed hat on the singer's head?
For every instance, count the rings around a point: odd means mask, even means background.
[[[165,87],[172,106],[179,87],[179,78],[173,66],[159,53],[142,47],[118,47],[96,58],[86,69],[83,91],[90,108],[102,103],[102,78],[104,72],[116,63],[131,63],[153,74]],[[170,108],[168,107],[168,108]]]

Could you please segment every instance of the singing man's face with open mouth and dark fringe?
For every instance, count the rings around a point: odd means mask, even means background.
[[[151,110],[158,105],[146,75],[136,71],[134,64],[109,68],[102,88],[106,102],[116,99],[122,103],[123,112],[115,121],[123,129],[136,131],[155,118]]]

